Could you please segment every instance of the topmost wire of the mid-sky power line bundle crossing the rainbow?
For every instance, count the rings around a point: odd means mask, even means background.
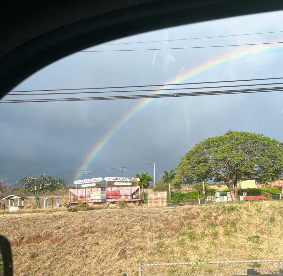
[[[206,81],[206,82],[193,82],[193,83],[181,83],[181,84],[151,84],[151,85],[131,85],[131,86],[109,86],[109,87],[88,87],[88,88],[66,88],[66,89],[42,89],[42,90],[14,90],[10,93],[18,92],[45,92],[45,91],[66,91],[66,90],[90,90],[90,89],[116,89],[116,88],[134,88],[134,87],[153,87],[153,86],[171,86],[171,85],[190,85],[190,84],[214,84],[214,83],[226,83],[226,82],[243,82],[243,81],[256,81],[256,80],[271,80],[282,79],[278,78],[254,78],[254,79],[238,79],[238,80],[221,80],[221,81]]]

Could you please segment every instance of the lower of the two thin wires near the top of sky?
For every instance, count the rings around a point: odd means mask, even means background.
[[[78,52],[128,52],[128,51],[157,51],[157,50],[181,50],[181,49],[201,49],[201,48],[217,48],[217,47],[234,47],[234,46],[252,46],[252,45],[266,45],[279,44],[279,42],[264,42],[264,43],[249,43],[249,44],[232,44],[232,45],[215,45],[215,46],[195,46],[195,47],[175,47],[175,48],[155,48],[155,49],[129,49],[129,50],[83,50]]]

